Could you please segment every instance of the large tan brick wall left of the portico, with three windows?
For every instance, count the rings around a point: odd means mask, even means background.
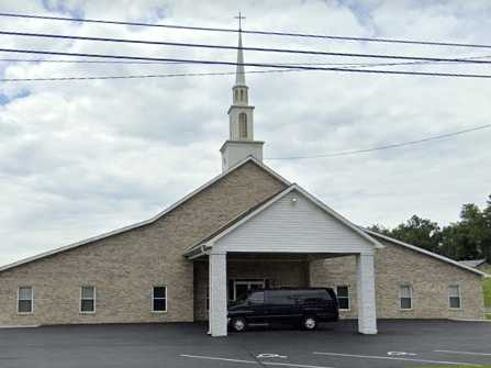
[[[193,320],[193,265],[183,249],[284,187],[253,163],[157,222],[0,272],[0,325]],[[29,231],[29,230],[27,230]],[[97,288],[97,313],[79,313],[80,286]],[[152,287],[168,311],[152,312]],[[16,313],[16,290],[34,287],[34,313]]]

